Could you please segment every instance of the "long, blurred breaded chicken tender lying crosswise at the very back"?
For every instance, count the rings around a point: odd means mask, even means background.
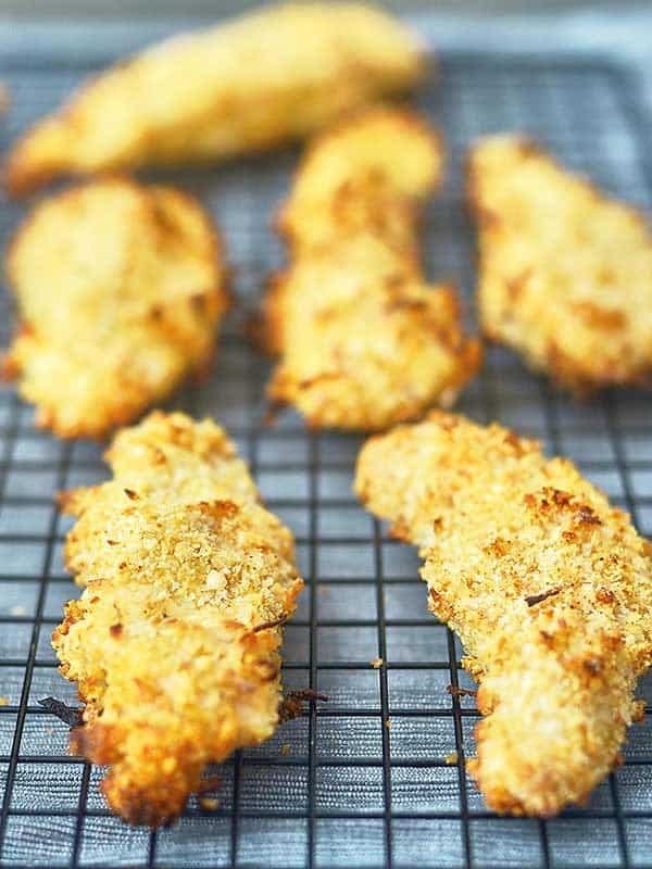
[[[380,10],[290,3],[120,63],[9,156],[24,193],[61,174],[215,162],[300,139],[421,78],[413,36]]]

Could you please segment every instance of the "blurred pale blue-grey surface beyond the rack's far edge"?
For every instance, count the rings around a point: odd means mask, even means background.
[[[269,0],[0,0],[0,62],[27,45],[50,56],[106,60]],[[379,0],[439,50],[609,52],[642,74],[652,105],[652,2],[628,0]],[[135,26],[136,25],[136,26]]]

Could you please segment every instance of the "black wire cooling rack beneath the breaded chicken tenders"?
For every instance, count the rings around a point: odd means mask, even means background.
[[[98,64],[104,59],[98,59]],[[38,51],[8,63],[12,140],[91,72]],[[449,181],[429,206],[424,250],[431,276],[471,297],[473,236],[462,161],[475,137],[525,129],[567,165],[650,210],[651,128],[626,71],[603,59],[446,56],[419,98],[446,131]],[[283,252],[268,218],[288,189],[296,154],[174,179],[214,210],[227,238],[241,305],[255,306]],[[3,203],[2,230],[18,210]],[[43,280],[48,276],[43,274]],[[7,293],[1,331],[10,331]],[[498,818],[464,771],[478,714],[447,685],[471,682],[454,637],[426,613],[413,550],[387,538],[356,503],[360,441],[310,433],[288,413],[261,426],[268,363],[247,344],[235,312],[210,382],[173,406],[216,416],[249,457],[269,508],[293,529],[308,584],[287,628],[285,681],[330,700],[283,726],[221,770],[221,807],[191,799],[171,829],[150,834],[113,818],[101,771],[66,754],[67,729],[37,701],[74,702],[57,671],[50,633],[77,590],[61,558],[67,528],[57,490],[106,476],[100,449],[62,443],[33,427],[29,407],[0,392],[0,864],[5,867],[639,867],[652,866],[652,684],[631,729],[626,764],[588,807],[551,821]],[[71,336],[74,340],[74,336]],[[541,438],[578,462],[652,532],[652,401],[617,392],[580,405],[490,349],[460,410]],[[375,669],[371,662],[381,658]],[[455,763],[455,753],[457,760]]]

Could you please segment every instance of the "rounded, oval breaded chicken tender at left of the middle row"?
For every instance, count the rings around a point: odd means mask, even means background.
[[[221,244],[173,188],[112,178],[41,202],[8,272],[22,325],[4,374],[60,437],[101,438],[211,362]]]

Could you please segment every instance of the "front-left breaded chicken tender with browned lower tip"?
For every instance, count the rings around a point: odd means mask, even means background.
[[[303,583],[291,533],[212,421],[154,412],[106,458],[110,482],[62,499],[86,590],[52,642],[86,704],[73,748],[110,766],[113,811],[156,827],[208,764],[274,732],[280,624]]]

